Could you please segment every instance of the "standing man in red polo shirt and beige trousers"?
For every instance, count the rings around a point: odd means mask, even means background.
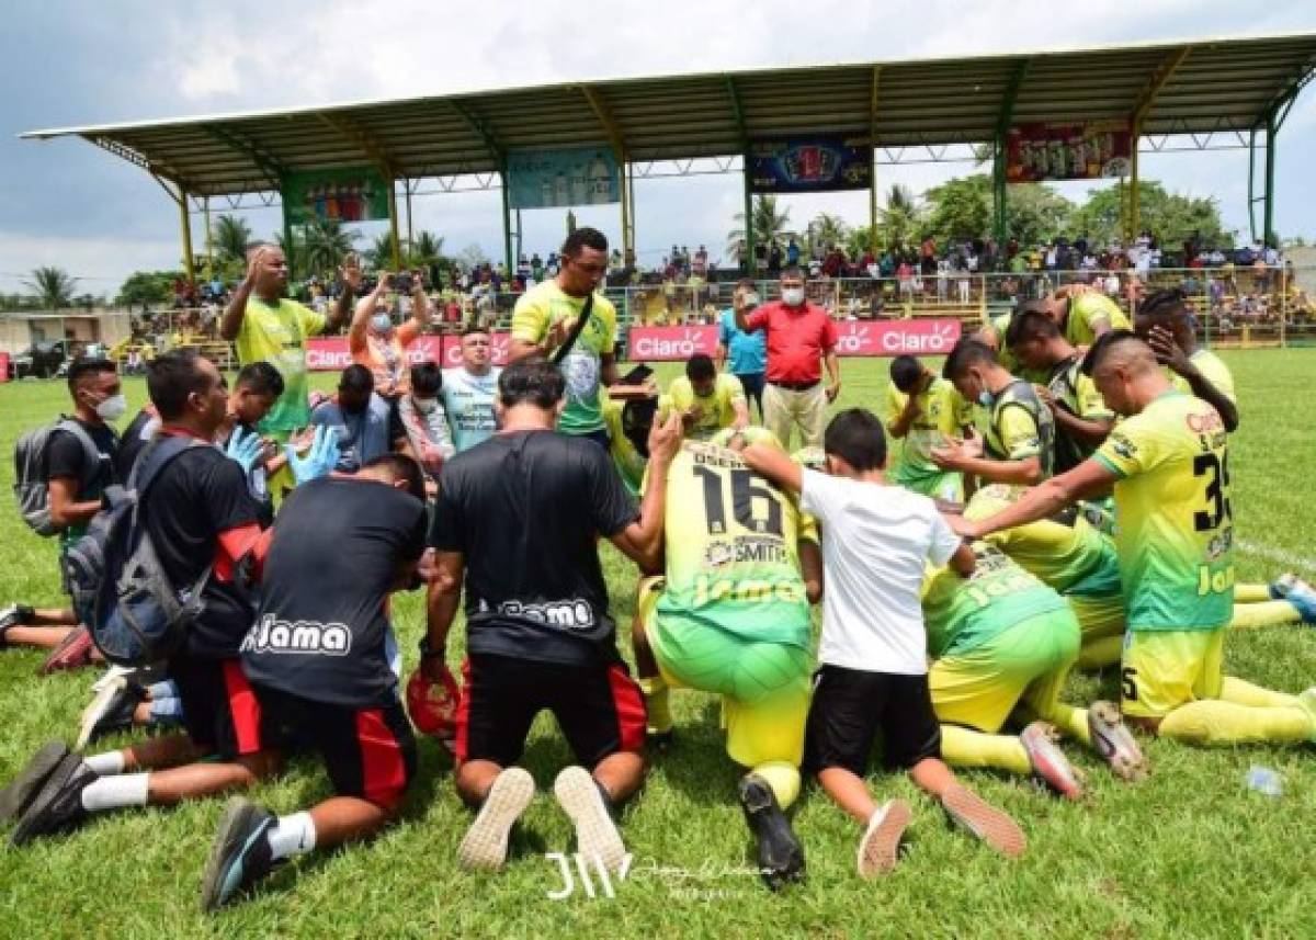
[[[750,312],[736,295],[736,325],[746,333],[767,333],[767,388],[763,424],[791,450],[791,428],[800,425],[803,446],[822,445],[826,407],[841,394],[841,366],[836,358],[836,323],[817,304],[804,299],[804,273],[782,271],[782,299]],[[826,362],[828,386],[822,388]]]

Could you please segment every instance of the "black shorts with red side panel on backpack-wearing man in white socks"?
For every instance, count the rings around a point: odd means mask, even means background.
[[[262,749],[261,704],[238,660],[180,656],[170,661],[168,677],[178,686],[192,744],[228,758]]]

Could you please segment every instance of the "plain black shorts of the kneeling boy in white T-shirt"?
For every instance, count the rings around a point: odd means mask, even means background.
[[[928,677],[821,666],[813,674],[804,732],[805,771],[844,768],[863,777],[879,732],[887,770],[941,756],[941,725],[932,711]]]

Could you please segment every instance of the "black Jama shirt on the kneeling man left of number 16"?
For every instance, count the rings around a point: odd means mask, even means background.
[[[637,517],[608,452],[553,431],[495,434],[443,465],[429,544],[466,561],[471,653],[616,658],[596,540]]]

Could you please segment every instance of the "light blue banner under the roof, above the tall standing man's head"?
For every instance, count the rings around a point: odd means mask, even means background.
[[[621,170],[607,145],[513,151],[507,188],[513,209],[605,205],[621,201]]]

